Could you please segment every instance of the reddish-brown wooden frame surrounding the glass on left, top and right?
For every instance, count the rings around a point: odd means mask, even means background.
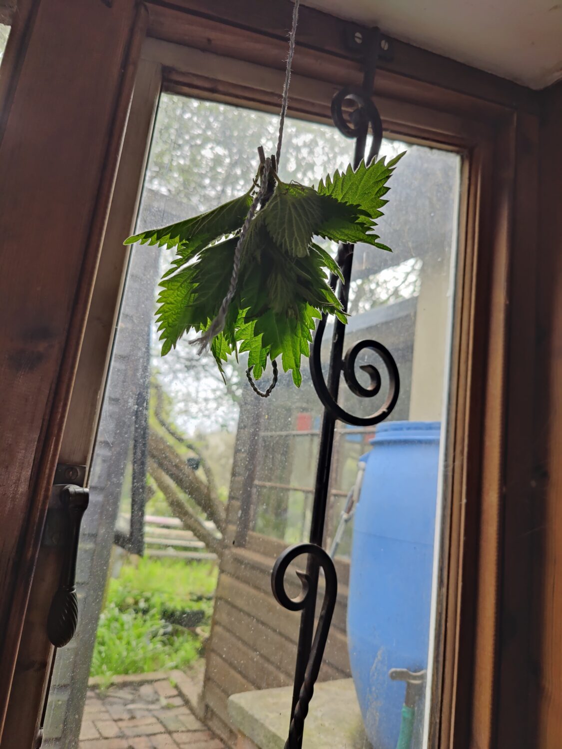
[[[28,269],[26,275],[13,273],[10,279],[13,304],[7,314],[8,325],[10,321],[16,325],[18,318],[28,320],[32,315],[40,315],[47,300],[50,309],[58,311],[60,322],[57,330],[49,333],[55,349],[51,357],[43,357],[44,336],[37,343],[21,324],[14,327],[13,339],[19,345],[25,341],[24,351],[16,365],[6,369],[10,386],[9,402],[4,404],[7,411],[4,434],[10,437],[15,434],[22,420],[28,428],[19,430],[21,434],[16,439],[10,439],[5,452],[6,483],[10,497],[15,499],[10,513],[5,513],[11,524],[9,558],[0,554],[0,579],[7,581],[0,594],[0,713],[5,712],[12,685],[55,464],[63,459],[87,463],[93,444],[94,428],[84,431],[82,427],[85,423],[94,426],[96,422],[121,288],[122,273],[118,267],[123,270],[126,256],[121,250],[121,255],[109,261],[109,255],[103,252],[99,270],[97,262],[104,234],[104,248],[111,244],[114,250],[118,237],[127,234],[123,216],[128,211],[130,223],[130,211],[138,196],[137,163],[126,180],[127,188],[115,193],[116,200],[126,195],[122,198],[124,213],[120,221],[115,219],[106,228],[142,40],[148,34],[180,44],[167,48],[170,57],[164,63],[153,61],[154,75],[161,73],[170,91],[199,91],[198,95],[212,95],[220,100],[232,99],[234,95],[235,100],[245,99],[253,106],[275,109],[278,95],[272,91],[279,91],[277,83],[282,76],[291,10],[288,0],[275,4],[264,4],[261,0],[237,4],[217,0],[211,8],[206,0],[173,3],[155,0],[138,7],[133,0],[118,0],[113,7],[106,8],[103,16],[100,0],[88,0],[87,12],[78,14],[79,19],[71,19],[70,14],[68,18],[65,15],[64,5],[62,0],[35,2],[18,37],[20,55],[10,66],[10,83],[3,89],[7,93],[0,120],[3,126],[0,177],[5,175],[7,184],[15,181],[16,189],[23,194],[28,189],[26,185],[37,181],[39,173],[35,200],[39,206],[42,201],[48,203],[44,198],[51,187],[48,164],[40,172],[29,162],[22,165],[21,159],[10,159],[8,149],[19,146],[19,122],[38,120],[44,108],[45,92],[40,90],[40,83],[44,88],[45,82],[37,79],[38,66],[44,64],[39,45],[55,27],[61,34],[59,44],[65,50],[68,47],[70,57],[74,55],[69,64],[76,75],[83,71],[88,83],[74,94],[73,104],[78,106],[82,102],[82,109],[87,109],[92,89],[97,91],[97,88],[91,70],[94,52],[91,58],[85,58],[80,55],[79,46],[70,41],[76,34],[76,25],[103,47],[105,75],[111,85],[106,85],[103,91],[105,109],[101,104],[98,106],[99,121],[91,125],[100,132],[99,153],[105,154],[105,158],[100,159],[100,169],[91,180],[88,193],[76,194],[76,189],[60,193],[69,211],[84,212],[85,204],[88,205],[85,211],[88,222],[77,227],[74,236],[68,235],[68,243],[63,246],[57,240],[61,228],[66,231],[71,222],[61,224],[58,218],[58,224],[53,223],[51,238],[41,248],[49,261],[56,258],[57,273],[53,268],[50,287],[43,288],[37,298],[25,294],[30,275],[37,276],[37,282],[41,273],[44,276],[45,268],[40,264]],[[241,17],[244,24],[240,23]],[[66,27],[60,25],[61,18],[67,20]],[[343,43],[345,31],[350,27],[357,28],[303,7],[292,92],[297,114],[327,121],[328,91],[360,81],[357,57]],[[536,261],[535,253],[527,252],[527,247],[535,244],[537,192],[530,194],[528,184],[537,181],[540,97],[536,92],[439,55],[397,40],[390,43],[393,59],[381,62],[375,83],[375,96],[387,130],[464,149],[471,157],[466,167],[467,190],[463,201],[468,228],[461,237],[464,276],[456,310],[459,357],[453,363],[456,398],[452,406],[456,419],[455,429],[448,437],[456,470],[450,485],[450,521],[444,527],[443,539],[446,563],[441,580],[447,595],[440,618],[444,650],[437,656],[442,679],[435,683],[433,693],[441,705],[441,716],[432,745],[443,749],[469,745],[503,749],[509,744],[507,739],[504,742],[502,731],[507,730],[507,724],[502,715],[510,712],[514,703],[525,703],[525,684],[522,680],[515,683],[513,673],[516,665],[520,665],[521,655],[525,659],[528,652],[525,595],[522,589],[514,587],[516,578],[510,566],[506,567],[506,560],[512,559],[513,543],[521,530],[511,518],[517,518],[518,510],[526,506],[524,487],[530,480],[531,465],[521,460],[521,454],[522,450],[525,452],[525,434],[531,434],[526,430],[532,422],[532,403],[525,399],[532,392],[534,379],[534,316],[533,312],[523,312],[521,305],[510,305],[509,300],[522,298],[525,293],[534,310]],[[17,40],[13,42],[14,49],[16,44]],[[151,44],[149,40],[148,48]],[[236,81],[225,80],[224,76],[222,80],[204,77],[193,70],[193,64],[186,67],[181,63],[182,55],[191,55],[193,61],[195,53],[182,50],[181,46],[200,55],[230,57],[232,70],[237,69],[237,64],[259,64],[262,83],[250,87],[258,99],[253,100],[250,92],[242,90]],[[205,67],[207,73],[208,70]],[[67,100],[66,70],[53,62],[49,73],[49,94],[61,102],[61,111],[52,112],[52,118],[53,121],[60,118],[62,127]],[[154,86],[154,79],[151,85]],[[80,118],[76,119],[73,133],[73,148],[77,153],[85,148],[91,150],[91,130]],[[64,127],[59,140],[49,146],[60,154],[68,153]],[[71,178],[69,167],[69,186]],[[522,210],[524,204],[526,213]],[[39,215],[43,217],[40,212]],[[30,241],[25,225],[10,226],[10,240],[15,258],[16,248]],[[76,252],[76,246],[81,247],[80,252]],[[61,273],[61,267],[66,272]],[[106,286],[101,283],[103,278]],[[53,303],[52,288],[59,282],[67,288]],[[2,360],[5,357],[7,361],[14,345],[1,344]],[[32,374],[29,357],[38,357]],[[525,366],[521,366],[521,360]],[[40,382],[48,386],[40,387]],[[33,420],[30,413],[34,414]],[[34,450],[30,453],[31,445]],[[528,550],[524,552],[530,554]],[[502,634],[508,613],[512,621],[513,616],[518,617],[520,626],[517,636],[506,640]],[[25,648],[19,655],[25,659]],[[525,711],[521,710],[513,716],[510,730],[522,736],[527,729]]]

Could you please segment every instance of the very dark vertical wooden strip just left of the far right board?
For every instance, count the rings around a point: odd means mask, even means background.
[[[495,744],[534,749],[529,716],[531,598],[534,567],[533,449],[538,258],[539,121],[518,112],[516,173],[506,285],[504,482],[498,619]]]

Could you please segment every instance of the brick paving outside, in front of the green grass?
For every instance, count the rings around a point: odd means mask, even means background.
[[[89,688],[79,749],[225,749],[169,679]]]

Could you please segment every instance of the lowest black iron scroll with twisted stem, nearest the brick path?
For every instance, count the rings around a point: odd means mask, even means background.
[[[288,565],[303,554],[309,554],[315,560],[316,564],[322,568],[326,587],[318,625],[316,626],[312,642],[312,649],[304,673],[303,684],[300,687],[296,704],[293,706],[291,725],[289,727],[288,739],[285,742],[285,749],[298,749],[302,743],[304,721],[306,715],[308,715],[309,703],[312,700],[312,694],[314,694],[316,679],[318,679],[318,672],[320,671],[324,656],[324,648],[328,632],[330,631],[330,623],[338,592],[336,568],[329,554],[315,544],[297,544],[285,549],[277,559],[277,562],[275,562],[273,571],[271,572],[271,589],[274,592],[277,602],[289,611],[301,611],[306,607],[309,596],[316,595],[315,585],[311,585],[312,581],[309,574],[300,571],[297,571],[302,585],[300,595],[297,598],[290,598],[285,591],[285,572]]]

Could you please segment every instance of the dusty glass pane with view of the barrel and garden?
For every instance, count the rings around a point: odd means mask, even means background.
[[[274,115],[163,94],[137,228],[240,194],[257,146],[271,153],[276,141]],[[315,184],[352,151],[332,127],[289,119],[281,177]],[[427,677],[401,679],[427,669],[432,647],[460,162],[384,140],[382,154],[402,151],[380,222],[394,252],[357,246],[345,334],[345,348],[390,349],[401,394],[388,423],[336,429],[324,547],[339,596],[306,749],[396,749],[401,732],[404,749],[425,746]],[[153,312],[170,261],[132,251],[82,528],[79,631],[57,655],[48,747],[76,748],[80,727],[81,748],[285,743],[299,615],[274,600],[270,576],[286,546],[308,538],[322,409],[306,366],[300,389],[280,373],[264,400],[244,356],[226,364],[226,382],[185,340],[161,358]],[[329,324],[326,361],[330,336]],[[340,402],[360,415],[378,406],[343,385]],[[140,556],[113,543],[132,530],[136,491]],[[297,595],[292,570],[287,585]]]

